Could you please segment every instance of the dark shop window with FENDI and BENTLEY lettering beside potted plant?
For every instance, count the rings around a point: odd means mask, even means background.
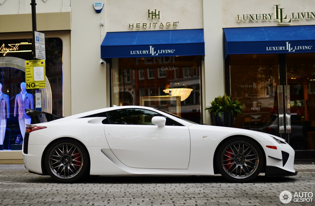
[[[244,103],[244,116],[234,127],[278,135],[276,89],[279,84],[277,54],[230,56],[231,96]]]

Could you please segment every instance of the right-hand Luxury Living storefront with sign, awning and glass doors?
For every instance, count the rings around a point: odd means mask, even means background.
[[[277,135],[296,158],[314,159],[315,4],[230,3],[222,10],[225,91],[245,103],[234,127]]]

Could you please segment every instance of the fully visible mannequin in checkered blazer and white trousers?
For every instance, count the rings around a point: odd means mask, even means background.
[[[26,115],[25,109],[34,109],[33,95],[26,92],[25,82],[21,83],[21,92],[15,96],[14,116],[16,116],[17,107],[20,130],[24,139],[26,124],[31,124],[31,117]]]

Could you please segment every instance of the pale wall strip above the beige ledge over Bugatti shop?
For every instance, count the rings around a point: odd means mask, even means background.
[[[25,4],[26,7],[22,9],[27,9],[24,11],[24,14],[31,14],[31,0],[0,0],[0,15],[7,14],[19,14],[20,2]],[[72,1],[73,2],[73,1]],[[52,12],[61,12],[62,0],[36,0],[36,13],[52,13]],[[27,13],[26,13],[27,12]]]

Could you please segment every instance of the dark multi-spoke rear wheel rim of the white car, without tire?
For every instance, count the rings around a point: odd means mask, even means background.
[[[49,168],[59,178],[74,177],[80,172],[82,166],[82,152],[74,144],[58,144],[49,154]]]

